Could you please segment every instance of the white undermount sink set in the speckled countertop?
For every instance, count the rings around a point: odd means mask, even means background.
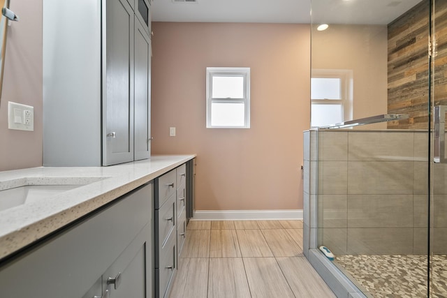
[[[0,191],[0,211],[38,202],[103,179],[105,177],[70,177],[63,180],[59,177],[22,178],[20,181],[13,181],[14,183],[10,183],[9,188]]]

